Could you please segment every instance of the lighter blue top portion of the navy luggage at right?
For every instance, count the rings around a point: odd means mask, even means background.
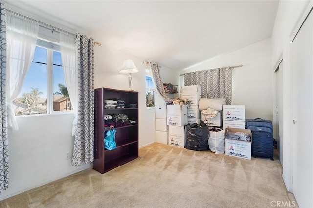
[[[263,131],[273,133],[273,124],[270,120],[264,120],[260,118],[246,119],[246,129],[250,129],[251,131]]]

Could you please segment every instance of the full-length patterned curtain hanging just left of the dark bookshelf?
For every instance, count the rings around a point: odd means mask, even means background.
[[[78,108],[72,165],[93,162],[94,51],[93,39],[77,36]]]

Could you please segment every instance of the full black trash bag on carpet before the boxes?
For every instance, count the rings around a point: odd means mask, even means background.
[[[201,121],[200,124],[188,124],[185,128],[186,149],[203,151],[209,150],[209,127]]]

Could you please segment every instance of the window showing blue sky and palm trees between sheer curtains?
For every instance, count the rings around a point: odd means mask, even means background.
[[[22,90],[13,104],[15,115],[51,114],[55,111],[73,110],[59,51],[40,44],[36,46]]]

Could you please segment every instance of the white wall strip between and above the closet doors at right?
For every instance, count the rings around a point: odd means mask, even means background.
[[[292,71],[291,41],[292,34],[306,11],[311,0],[280,1],[272,32],[272,69],[276,68],[280,57],[283,58],[283,179],[288,191],[292,192]],[[276,83],[274,83],[276,84]],[[311,153],[310,153],[311,154]],[[306,180],[306,179],[303,179]]]

